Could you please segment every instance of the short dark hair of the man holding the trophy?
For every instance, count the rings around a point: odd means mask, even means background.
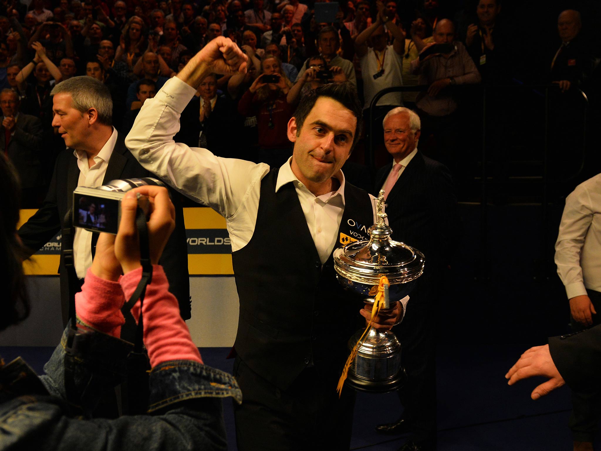
[[[353,152],[359,137],[361,136],[361,127],[363,125],[363,108],[359,102],[359,96],[355,85],[350,82],[344,83],[328,83],[317,87],[314,90],[308,91],[301,97],[301,102],[294,111],[294,120],[296,121],[296,136],[301,134],[301,129],[305,123],[305,119],[315,106],[317,99],[320,97],[329,97],[341,103],[344,108],[349,109],[353,116],[357,118],[357,127],[353,135],[353,144],[350,147],[350,152]]]

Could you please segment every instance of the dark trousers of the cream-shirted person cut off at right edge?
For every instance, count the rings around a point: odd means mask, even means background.
[[[593,302],[597,314],[593,315],[593,326],[601,324],[601,293],[587,289],[588,297]],[[592,327],[592,326],[591,326]],[[573,331],[586,327],[572,318]],[[594,441],[601,420],[601,390],[582,392],[572,390],[572,414],[568,426],[575,441]]]

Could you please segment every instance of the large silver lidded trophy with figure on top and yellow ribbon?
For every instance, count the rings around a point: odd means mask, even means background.
[[[365,304],[375,302],[380,277],[385,275],[389,284],[384,286],[385,308],[391,302],[407,296],[415,280],[424,272],[424,254],[398,241],[392,241],[392,229],[386,225],[384,191],[377,200],[377,222],[368,232],[369,241],[355,241],[334,251],[334,268],[338,282],[358,293]],[[357,331],[349,340],[354,348],[365,329]],[[355,390],[384,393],[397,390],[403,384],[405,372],[401,366],[401,343],[392,331],[371,328],[349,368],[345,384]]]

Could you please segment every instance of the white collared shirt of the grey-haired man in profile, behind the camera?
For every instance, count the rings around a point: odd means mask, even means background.
[[[105,178],[106,168],[109,164],[112,151],[117,143],[117,130],[113,128],[111,137],[94,157],[94,165],[88,165],[88,154],[83,150],[74,150],[73,155],[77,158],[79,168],[79,179],[77,186],[88,186],[98,188]],[[75,228],[73,237],[73,259],[75,260],[75,272],[77,277],[84,278],[88,268],[92,266],[92,232]]]

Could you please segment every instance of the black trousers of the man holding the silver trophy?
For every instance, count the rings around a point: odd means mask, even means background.
[[[344,388],[338,399],[341,370],[307,368],[280,390],[236,357],[233,373],[242,390],[242,405],[234,403],[238,449],[348,450],[355,391]]]

